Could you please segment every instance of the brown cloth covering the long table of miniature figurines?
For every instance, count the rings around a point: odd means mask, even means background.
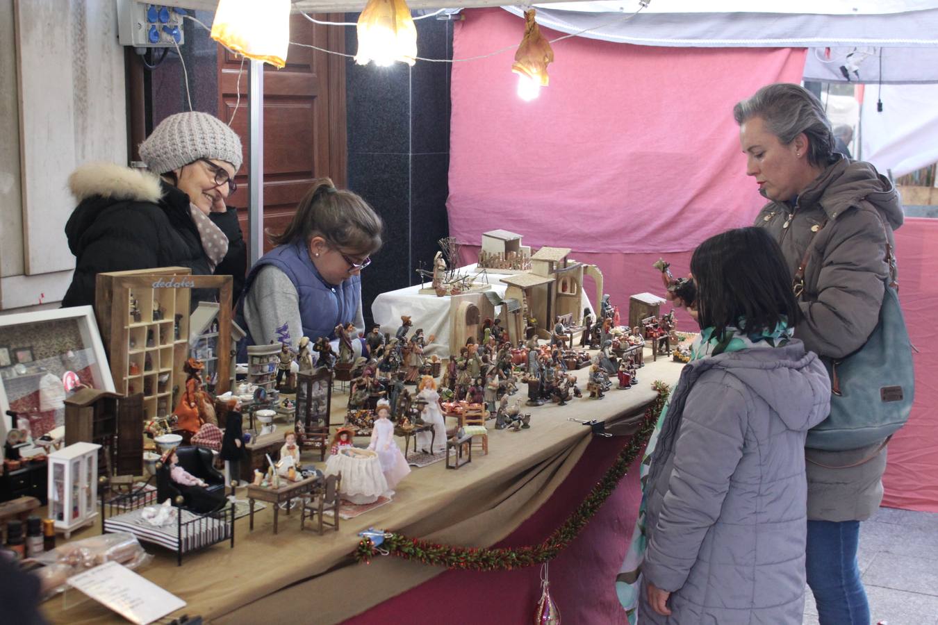
[[[650,359],[649,359],[650,360]],[[408,588],[425,582],[442,568],[375,558],[356,564],[350,554],[367,528],[385,528],[438,543],[484,547],[497,543],[551,507],[553,492],[565,483],[589,446],[587,427],[568,418],[614,421],[641,418],[658,393],[653,380],[674,383],[680,365],[658,360],[642,369],[647,383],[613,391],[603,401],[580,399],[566,407],[530,409],[531,428],[490,433],[490,453],[474,457],[458,470],[443,463],[416,469],[397,488],[392,503],[350,520],[325,535],[299,530],[299,515],[280,513],[280,531],[273,534],[273,512],[255,513],[254,529],[247,518],[235,521],[234,548],[217,545],[187,559],[182,567],[159,549],[141,573],[187,602],[185,612],[215,622],[258,622],[315,614],[316,622],[340,622],[366,611]],[[582,382],[581,382],[582,383]],[[588,487],[582,486],[585,497]],[[75,535],[97,532],[98,527]],[[356,593],[348,588],[369,588]],[[610,585],[612,591],[612,585]],[[448,602],[448,597],[441,597]],[[76,603],[74,592],[44,604],[53,622],[105,622],[112,618],[97,603]]]

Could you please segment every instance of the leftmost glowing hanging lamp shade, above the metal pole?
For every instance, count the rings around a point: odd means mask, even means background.
[[[212,38],[250,59],[283,67],[290,46],[290,0],[219,0]]]

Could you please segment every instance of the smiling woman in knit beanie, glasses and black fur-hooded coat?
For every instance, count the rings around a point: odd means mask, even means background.
[[[140,144],[140,157],[147,171],[89,163],[68,177],[79,203],[65,231],[77,261],[62,305],[93,305],[99,273],[155,267],[234,275],[240,290],[247,254],[225,205],[242,161],[234,130],[208,113],[177,113]]]

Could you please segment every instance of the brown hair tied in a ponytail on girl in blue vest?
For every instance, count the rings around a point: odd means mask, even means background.
[[[337,189],[329,178],[317,178],[296,206],[290,225],[269,234],[275,246],[321,236],[333,246],[373,254],[381,247],[384,223],[367,201],[352,191]]]

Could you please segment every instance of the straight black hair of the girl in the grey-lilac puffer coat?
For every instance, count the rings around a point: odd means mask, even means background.
[[[798,321],[792,275],[781,248],[761,228],[738,228],[712,236],[694,250],[690,273],[697,283],[698,321],[715,335],[727,326],[758,332],[775,329],[784,316]]]

